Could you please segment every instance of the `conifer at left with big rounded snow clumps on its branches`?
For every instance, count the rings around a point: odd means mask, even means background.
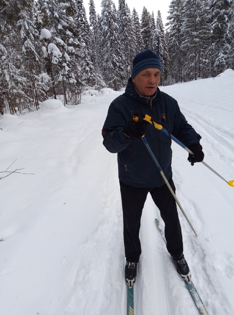
[[[60,0],[59,3],[56,0],[46,0],[51,37],[44,37],[41,33],[41,41],[44,44],[42,50],[47,62],[47,71],[51,76],[53,96],[56,98],[56,94],[64,95],[65,104],[67,90],[77,84],[74,79],[76,75],[72,70],[76,63],[76,46],[79,46],[74,35],[76,27],[73,18],[66,14],[68,7],[66,0]]]

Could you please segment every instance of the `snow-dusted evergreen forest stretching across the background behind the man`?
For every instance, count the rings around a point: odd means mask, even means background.
[[[164,26],[143,7],[93,0],[0,0],[0,115],[38,110],[42,101],[79,104],[87,89],[126,86],[134,56],[162,63],[161,85],[234,69],[234,1],[172,0]],[[157,3],[155,3],[155,9]],[[88,16],[87,16],[88,15]]]

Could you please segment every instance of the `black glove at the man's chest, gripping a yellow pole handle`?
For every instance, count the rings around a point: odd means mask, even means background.
[[[134,121],[132,117],[124,127],[123,133],[126,137],[131,138],[132,140],[140,139],[145,134],[148,124],[149,123],[146,120]]]

